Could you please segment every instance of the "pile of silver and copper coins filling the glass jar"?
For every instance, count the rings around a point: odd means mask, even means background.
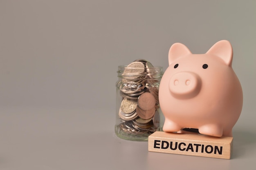
[[[153,133],[159,127],[159,73],[147,60],[139,59],[125,67],[119,82],[122,97],[119,109],[124,132]]]

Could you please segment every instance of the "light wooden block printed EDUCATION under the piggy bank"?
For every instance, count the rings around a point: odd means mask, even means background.
[[[230,159],[233,137],[154,132],[148,136],[148,151],[198,157]]]

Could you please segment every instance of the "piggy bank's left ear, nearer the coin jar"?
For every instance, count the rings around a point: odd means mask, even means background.
[[[191,54],[189,51],[188,47],[182,43],[175,43],[171,46],[169,50],[169,55],[168,55],[168,61],[169,65],[173,63],[174,60],[179,58],[180,56],[184,56],[186,54]]]

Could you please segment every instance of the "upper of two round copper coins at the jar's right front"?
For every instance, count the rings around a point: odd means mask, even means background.
[[[142,110],[151,110],[155,107],[155,97],[149,92],[141,94],[138,98],[138,105]]]

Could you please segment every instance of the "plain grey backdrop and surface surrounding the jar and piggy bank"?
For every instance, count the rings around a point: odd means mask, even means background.
[[[0,170],[251,169],[255,30],[255,0],[0,0]],[[222,39],[244,94],[231,160],[115,136],[118,65],[166,69],[173,43],[202,54]]]

